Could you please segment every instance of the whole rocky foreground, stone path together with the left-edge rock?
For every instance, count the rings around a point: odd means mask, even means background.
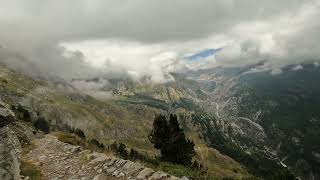
[[[63,143],[53,135],[43,137],[39,134],[37,137],[36,130],[17,121],[9,106],[2,101],[0,103],[0,178],[3,180],[180,179],[162,171],[156,172],[140,163],[83,150],[80,146]],[[33,135],[28,135],[31,132]],[[32,167],[26,170],[25,164]],[[34,176],[38,169],[41,173]],[[20,175],[29,174],[29,171],[32,177]]]

